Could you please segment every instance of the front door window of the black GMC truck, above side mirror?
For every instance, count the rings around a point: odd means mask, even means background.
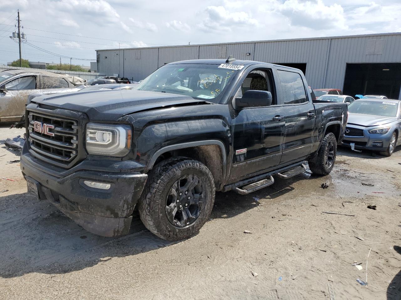
[[[270,70],[253,70],[249,72],[247,77],[241,84],[235,98],[242,98],[247,90],[259,90],[271,92],[273,96],[272,105],[277,104],[275,93],[273,90],[273,76]]]

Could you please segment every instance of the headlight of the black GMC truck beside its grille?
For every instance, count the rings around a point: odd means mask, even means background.
[[[131,148],[131,126],[123,124],[88,123],[86,150],[89,154],[126,156]]]

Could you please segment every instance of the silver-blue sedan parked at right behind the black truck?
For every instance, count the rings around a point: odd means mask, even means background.
[[[400,100],[358,99],[348,106],[344,145],[391,156],[401,144]]]

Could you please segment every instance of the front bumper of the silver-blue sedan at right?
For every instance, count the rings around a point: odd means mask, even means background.
[[[363,130],[363,136],[347,136],[345,134],[342,143],[344,146],[351,147],[351,143],[354,143],[355,149],[366,149],[373,151],[385,151],[389,147],[392,130],[385,134],[369,133],[368,130],[373,129],[372,127],[366,128],[357,125],[347,125],[347,128],[357,128]]]

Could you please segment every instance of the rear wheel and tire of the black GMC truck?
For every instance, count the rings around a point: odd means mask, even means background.
[[[308,161],[309,168],[314,174],[327,175],[331,172],[336,161],[337,139],[332,132],[327,133],[318,154]]]

